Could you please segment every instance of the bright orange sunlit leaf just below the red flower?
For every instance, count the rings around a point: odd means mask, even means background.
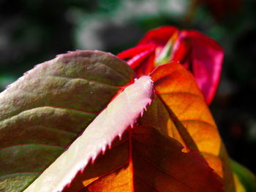
[[[222,178],[227,191],[234,190],[229,158],[216,123],[190,72],[181,64],[159,66],[151,74],[157,99],[148,107],[141,123],[184,146],[184,152],[199,150],[209,166]]]

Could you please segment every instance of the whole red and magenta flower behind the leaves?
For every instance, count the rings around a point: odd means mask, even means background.
[[[118,56],[130,58],[127,63],[138,76],[148,75],[159,64],[180,62],[194,74],[206,103],[210,104],[219,84],[223,50],[217,42],[200,32],[163,26],[148,31],[136,47]]]

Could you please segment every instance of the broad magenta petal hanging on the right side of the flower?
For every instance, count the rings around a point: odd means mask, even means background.
[[[223,49],[214,39],[197,31],[184,31],[192,45],[192,73],[197,85],[210,104],[219,85],[222,70]]]

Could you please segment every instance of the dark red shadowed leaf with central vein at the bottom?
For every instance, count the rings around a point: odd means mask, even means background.
[[[116,139],[113,148],[78,174],[64,192],[224,191],[197,151],[181,149],[176,139],[157,129],[137,126],[121,141]]]

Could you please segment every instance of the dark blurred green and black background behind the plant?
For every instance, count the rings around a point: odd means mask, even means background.
[[[151,28],[193,28],[225,49],[211,111],[231,158],[256,173],[256,1],[0,0],[0,91],[68,50],[119,53]]]

